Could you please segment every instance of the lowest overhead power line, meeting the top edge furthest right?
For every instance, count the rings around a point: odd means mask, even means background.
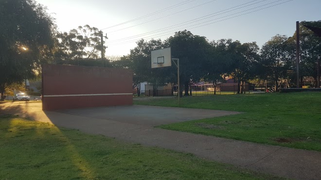
[[[278,1],[280,1],[280,0],[278,0]],[[270,8],[270,7],[273,7],[273,6],[277,6],[277,5],[280,5],[280,4],[284,4],[284,3],[289,2],[289,1],[293,1],[293,0],[287,0],[287,1],[285,1],[285,2],[281,2],[281,3],[278,3],[278,4],[274,4],[274,5],[271,5],[271,6],[268,6],[268,7],[265,7],[265,8],[261,8],[261,9],[255,10],[255,11],[251,11],[251,12],[249,12],[249,13],[244,13],[244,14],[241,14],[241,15],[238,15],[238,16],[243,16],[243,15],[247,15],[247,14],[250,14],[250,13],[257,12],[257,11],[261,11],[261,10],[264,10],[264,9],[267,9],[267,8]],[[277,1],[275,1],[275,2],[277,2]],[[253,8],[252,8],[252,9],[253,9]],[[248,11],[248,10],[246,10],[246,11]],[[245,12],[245,11],[242,11],[242,12]],[[241,12],[240,12],[240,13],[241,13]],[[238,13],[235,13],[235,14],[238,14]],[[233,15],[234,15],[234,14],[233,14]],[[229,15],[229,16],[231,16],[231,15]],[[232,18],[238,17],[238,16],[232,16],[232,17],[229,17],[229,18],[225,18],[225,19],[222,19],[222,20],[219,20],[219,21],[207,23],[207,24],[200,25],[200,26],[197,26],[197,27],[194,27],[194,28],[190,28],[190,29],[195,29],[195,28],[199,28],[199,27],[202,27],[202,26],[207,26],[207,25],[209,25],[209,24],[214,24],[214,23],[221,22],[221,21],[228,20],[228,19],[232,19]],[[227,16],[224,16],[224,17],[227,17]],[[222,18],[222,17],[220,17],[220,18]],[[218,19],[219,19],[219,18],[218,18]],[[195,26],[195,25],[193,25],[193,26]],[[179,30],[175,30],[175,31],[179,31]],[[157,34],[157,35],[160,35],[160,36],[155,36],[155,37],[150,37],[150,38],[140,38],[140,39],[144,39],[144,40],[154,39],[154,38],[156,38],[156,37],[161,37],[161,36],[164,36],[164,35],[173,34],[173,31],[171,31],[171,33],[168,33],[168,32],[166,32],[166,33],[167,33],[167,34],[162,34],[162,35]],[[129,41],[128,41],[128,42],[122,42],[122,43],[119,43],[119,44],[116,43],[116,44],[112,44],[111,46],[118,46],[118,45],[128,44],[128,43],[132,43],[132,42],[137,42],[137,41],[140,40],[140,39],[137,39],[137,40],[134,40],[134,41],[130,41],[130,42],[129,42]]]

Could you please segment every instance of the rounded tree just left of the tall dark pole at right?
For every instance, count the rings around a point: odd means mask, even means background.
[[[293,61],[287,50],[287,37],[277,34],[267,41],[261,49],[260,65],[262,66],[261,77],[274,82],[278,91],[278,81],[286,78],[286,71]]]

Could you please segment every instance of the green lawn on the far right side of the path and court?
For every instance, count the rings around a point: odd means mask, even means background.
[[[134,98],[134,103],[178,107],[177,98]],[[158,127],[321,151],[321,92],[184,97],[181,107],[244,113]]]

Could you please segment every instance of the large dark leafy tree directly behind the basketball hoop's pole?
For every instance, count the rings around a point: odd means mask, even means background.
[[[205,73],[204,62],[208,58],[210,44],[205,37],[193,35],[187,30],[176,32],[165,44],[172,48],[172,57],[179,59],[180,85],[184,85],[184,96],[189,96],[189,83],[198,81]]]

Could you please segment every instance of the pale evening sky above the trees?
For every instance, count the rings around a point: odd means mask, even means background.
[[[88,24],[107,33],[106,56],[127,55],[141,38],[165,40],[185,29],[209,41],[232,38],[262,47],[276,34],[292,36],[296,21],[321,20],[321,0],[36,1],[47,6],[59,32]]]

